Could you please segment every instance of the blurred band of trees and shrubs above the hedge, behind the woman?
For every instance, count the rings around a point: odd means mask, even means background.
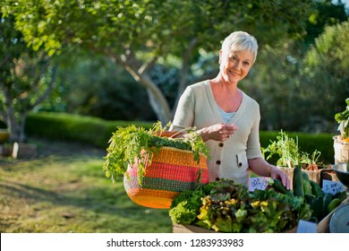
[[[240,87],[262,130],[336,133],[349,97],[342,1],[2,1],[0,120],[25,141],[30,112],[173,118],[183,89],[217,74],[221,41],[246,30],[259,56]]]

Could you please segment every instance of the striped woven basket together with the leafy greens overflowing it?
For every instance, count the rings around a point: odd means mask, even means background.
[[[160,122],[146,130],[129,125],[118,127],[109,140],[103,169],[113,181],[123,176],[123,186],[133,202],[151,208],[169,208],[175,195],[208,183],[209,149],[196,133],[186,128],[168,132],[171,123]]]

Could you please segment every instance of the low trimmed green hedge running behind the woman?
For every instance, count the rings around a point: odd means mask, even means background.
[[[140,121],[106,121],[98,117],[87,117],[66,113],[39,112],[32,113],[27,119],[27,135],[49,138],[52,140],[76,141],[106,148],[108,141],[118,126],[136,125],[150,128],[154,122]],[[287,132],[286,132],[287,133]],[[267,147],[270,141],[276,141],[279,132],[261,131],[260,145]],[[321,152],[320,161],[334,162],[332,134],[287,133],[289,137],[298,137],[301,151],[310,154]]]

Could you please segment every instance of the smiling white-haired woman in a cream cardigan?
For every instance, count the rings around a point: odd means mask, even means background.
[[[249,73],[257,51],[257,40],[250,34],[230,34],[219,51],[217,77],[186,88],[171,130],[197,127],[210,150],[210,181],[225,177],[248,186],[251,170],[263,177],[278,178],[289,189],[290,180],[285,173],[262,157],[259,104],[237,86]]]

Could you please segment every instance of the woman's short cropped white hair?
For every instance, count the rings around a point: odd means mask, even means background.
[[[245,31],[234,31],[222,44],[222,53],[228,55],[232,51],[248,50],[253,55],[253,62],[256,61],[258,53],[257,39]]]

